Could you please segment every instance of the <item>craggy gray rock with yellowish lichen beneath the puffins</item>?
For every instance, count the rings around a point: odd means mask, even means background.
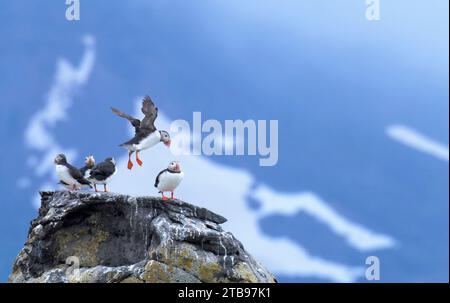
[[[41,197],[9,282],[276,282],[205,208],[112,193]]]

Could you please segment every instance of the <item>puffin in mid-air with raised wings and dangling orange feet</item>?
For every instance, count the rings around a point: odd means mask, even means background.
[[[111,109],[119,117],[130,121],[135,130],[134,137],[120,145],[128,150],[128,169],[133,168],[131,155],[134,152],[136,152],[136,162],[139,166],[142,166],[142,161],[139,159],[139,152],[141,150],[153,147],[159,142],[163,142],[167,147],[170,147],[169,133],[164,130],[157,130],[155,127],[155,120],[156,117],[158,117],[158,108],[155,107],[155,104],[149,96],[145,96],[142,101],[141,110],[145,115],[142,121],[113,107]]]

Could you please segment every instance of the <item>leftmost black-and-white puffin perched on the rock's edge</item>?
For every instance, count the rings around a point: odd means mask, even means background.
[[[67,163],[66,156],[59,154],[55,158],[56,175],[60,179],[61,184],[71,190],[78,190],[84,186],[92,187],[90,182],[86,180],[81,172],[74,166]]]

